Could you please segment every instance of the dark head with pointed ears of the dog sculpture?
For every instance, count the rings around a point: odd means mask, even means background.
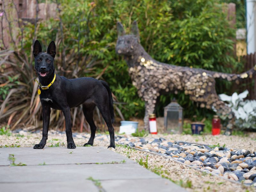
[[[131,34],[126,35],[122,23],[117,22],[117,42],[116,53],[120,55],[131,56],[140,46],[140,34],[136,21],[132,23]]]

